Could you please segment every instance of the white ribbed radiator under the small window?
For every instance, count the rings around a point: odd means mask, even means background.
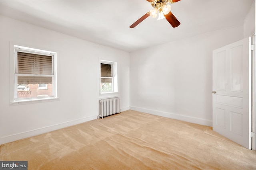
[[[99,104],[100,115],[98,115],[98,119],[100,119],[100,117],[103,119],[103,117],[120,113],[119,98],[100,99]]]

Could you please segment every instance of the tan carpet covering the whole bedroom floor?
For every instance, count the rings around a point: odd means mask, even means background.
[[[28,169],[256,169],[255,151],[196,125],[124,111],[4,144],[0,160]]]

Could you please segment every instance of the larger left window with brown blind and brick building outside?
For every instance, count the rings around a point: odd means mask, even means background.
[[[56,98],[56,53],[14,45],[14,101]]]

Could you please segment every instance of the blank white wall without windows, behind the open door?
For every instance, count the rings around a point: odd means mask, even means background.
[[[130,108],[212,126],[212,50],[242,38],[239,26],[131,53]]]

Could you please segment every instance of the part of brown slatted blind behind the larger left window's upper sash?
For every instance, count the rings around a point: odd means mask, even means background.
[[[18,52],[18,74],[52,74],[52,56]]]

